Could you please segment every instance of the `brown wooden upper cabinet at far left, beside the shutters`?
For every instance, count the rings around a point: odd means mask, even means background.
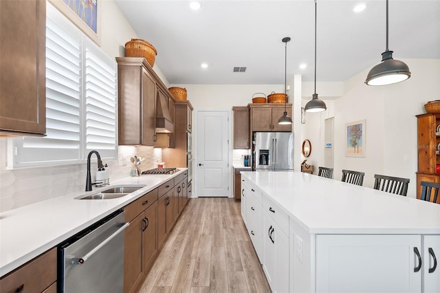
[[[46,132],[46,1],[0,1],[0,134]]]

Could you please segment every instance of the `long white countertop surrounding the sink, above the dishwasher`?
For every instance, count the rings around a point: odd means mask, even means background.
[[[93,187],[93,191],[54,197],[0,213],[0,276],[57,246],[184,171],[186,168],[181,168],[172,175],[126,177],[101,188]],[[117,199],[75,198],[120,184],[146,186]]]

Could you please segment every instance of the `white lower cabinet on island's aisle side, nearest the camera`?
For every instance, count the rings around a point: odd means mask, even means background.
[[[263,213],[263,270],[272,292],[289,292],[289,238]]]

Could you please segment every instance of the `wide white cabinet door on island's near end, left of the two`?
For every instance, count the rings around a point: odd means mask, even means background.
[[[421,292],[420,248],[420,235],[317,235],[316,292]]]

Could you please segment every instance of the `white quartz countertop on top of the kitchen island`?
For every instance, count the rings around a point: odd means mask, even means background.
[[[440,204],[298,171],[241,175],[311,234],[440,234]]]

